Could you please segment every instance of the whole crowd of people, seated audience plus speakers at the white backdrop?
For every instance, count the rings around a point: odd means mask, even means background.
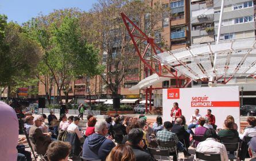
[[[0,106],[0,112],[5,109],[5,112],[2,111],[3,113],[15,115],[15,112],[12,113],[13,111],[8,105],[0,102]],[[29,138],[31,138],[37,154],[45,155],[48,160],[68,160],[69,157],[76,157],[73,141],[69,142],[70,134],[73,134],[79,143],[77,148],[83,158],[88,160],[155,160],[150,155],[149,148],[167,149],[170,155],[175,154],[176,151],[183,152],[184,156],[188,157],[191,156],[188,147],[192,146],[196,148],[197,152],[220,154],[221,160],[226,161],[228,160],[228,152],[224,144],[219,142],[220,138],[239,137],[242,142],[246,136],[250,136],[252,138],[246,153],[249,152],[254,160],[256,158],[255,117],[247,117],[248,126],[239,133],[237,131],[238,125],[235,124],[232,116],[227,116],[223,127],[217,128],[215,116],[212,115],[211,109],[208,109],[205,116],[200,115],[199,109],[195,109],[195,113],[187,124],[178,103],[173,104],[170,115],[172,119],[163,123],[162,117],[157,116],[156,122],[152,125],[148,123],[145,115],[133,118],[116,114],[114,119],[107,116],[105,120],[97,120],[96,117],[87,115],[86,130],[82,131],[78,126],[80,117],[83,117],[81,115],[83,115],[81,111],[79,116],[67,117],[65,113],[62,113],[59,120],[52,112],[48,117],[44,114],[34,117],[26,116],[24,128]],[[17,117],[14,118],[13,116],[11,119],[13,120],[10,123],[17,124]],[[48,119],[48,123],[45,123],[46,119]],[[10,128],[6,127],[6,129]],[[13,134],[13,131],[10,133]],[[1,133],[1,135],[4,134],[6,132]],[[205,141],[193,140],[191,139],[192,135],[204,136]],[[9,138],[7,135],[2,137]],[[18,140],[18,146],[17,142],[3,140],[0,147],[9,147],[11,144],[15,144],[15,148],[18,150],[18,156],[16,155],[18,160],[32,160],[31,153],[22,148],[26,139],[18,139],[16,136],[11,137],[11,140]],[[161,143],[166,142],[174,142],[176,146],[161,146]],[[15,152],[9,151],[8,153],[13,155]],[[177,155],[173,155],[173,160],[177,160]],[[195,156],[195,160],[199,159]]]

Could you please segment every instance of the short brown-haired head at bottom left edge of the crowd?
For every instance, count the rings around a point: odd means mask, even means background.
[[[70,151],[71,145],[68,142],[55,141],[49,144],[47,157],[49,161],[66,161]]]

